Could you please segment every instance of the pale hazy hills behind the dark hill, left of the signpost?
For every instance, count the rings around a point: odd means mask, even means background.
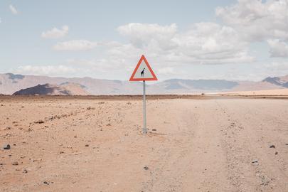
[[[80,85],[89,95],[119,95],[137,94],[141,92],[142,84],[120,80],[100,80],[94,78],[51,78],[38,75],[0,74],[0,93],[12,95],[14,92],[34,87],[36,85]]]

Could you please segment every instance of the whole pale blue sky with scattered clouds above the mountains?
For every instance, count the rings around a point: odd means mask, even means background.
[[[288,0],[1,0],[0,73],[129,80],[288,75]]]

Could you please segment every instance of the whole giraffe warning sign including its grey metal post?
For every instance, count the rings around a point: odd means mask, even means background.
[[[148,61],[146,60],[145,56],[142,55],[134,72],[131,75],[129,81],[143,81],[143,133],[147,133],[146,129],[146,80],[157,80],[156,75],[154,74],[153,70],[151,69]]]

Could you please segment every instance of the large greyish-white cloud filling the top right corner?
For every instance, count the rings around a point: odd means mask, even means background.
[[[233,26],[247,41],[267,38],[288,40],[287,0],[238,0],[233,6],[218,7],[217,16]]]

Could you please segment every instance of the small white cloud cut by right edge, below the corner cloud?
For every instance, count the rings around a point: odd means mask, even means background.
[[[288,57],[288,44],[279,39],[268,39],[272,57]]]

